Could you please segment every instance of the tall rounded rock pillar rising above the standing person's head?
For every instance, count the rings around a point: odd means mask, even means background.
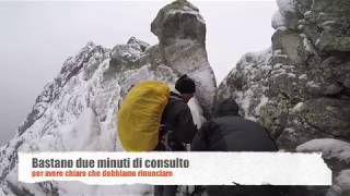
[[[161,9],[151,30],[160,40],[163,63],[196,79],[199,102],[209,117],[217,84],[207,58],[206,23],[199,10],[186,0],[174,1]]]

